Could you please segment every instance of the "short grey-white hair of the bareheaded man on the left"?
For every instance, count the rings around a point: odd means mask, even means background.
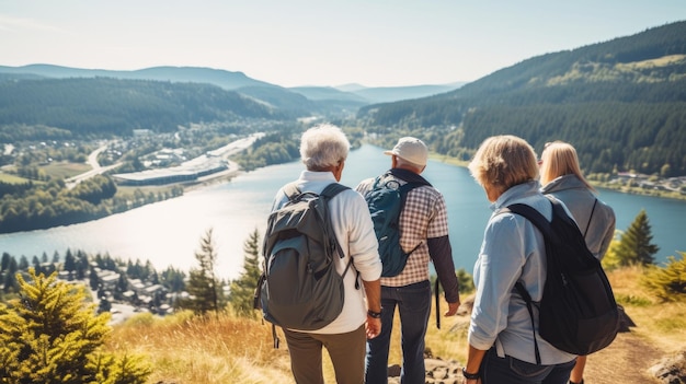
[[[302,133],[300,160],[308,171],[321,171],[347,159],[351,143],[341,128],[321,124]]]

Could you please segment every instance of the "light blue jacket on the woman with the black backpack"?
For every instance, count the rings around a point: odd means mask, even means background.
[[[546,283],[546,248],[542,234],[525,218],[501,208],[521,202],[552,218],[548,198],[539,191],[538,182],[529,182],[506,190],[491,206],[494,211],[485,226],[473,279],[477,295],[469,326],[469,344],[481,350],[495,345],[498,354],[536,364],[531,319],[526,303],[514,288],[522,281],[533,301],[540,301]],[[536,339],[544,365],[571,361],[574,354],[563,352],[538,335]]]

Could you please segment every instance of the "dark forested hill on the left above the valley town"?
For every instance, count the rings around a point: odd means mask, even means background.
[[[286,114],[210,84],[111,78],[0,81],[0,127],[13,130],[43,127],[54,135],[107,137],[136,128],[175,131],[191,123]]]

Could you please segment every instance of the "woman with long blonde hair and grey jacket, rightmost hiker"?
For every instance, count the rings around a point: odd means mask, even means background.
[[[588,249],[602,259],[615,235],[615,211],[598,200],[597,191],[584,178],[576,150],[567,142],[549,142],[539,164],[541,191],[564,202],[584,234]],[[583,384],[585,364],[586,357],[580,356],[570,384]]]

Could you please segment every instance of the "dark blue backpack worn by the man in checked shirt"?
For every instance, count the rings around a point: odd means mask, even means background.
[[[405,184],[400,185],[398,181],[390,177],[393,173],[402,173],[400,171],[402,170],[391,170],[377,176],[371,189],[365,194],[365,200],[374,222],[374,232],[379,243],[379,256],[384,265],[382,277],[398,276],[404,268],[408,257],[422,245],[422,243],[416,244],[409,253],[402,249],[399,219],[408,193],[413,188],[431,184],[423,177],[413,174],[411,175],[413,177],[408,177]]]

